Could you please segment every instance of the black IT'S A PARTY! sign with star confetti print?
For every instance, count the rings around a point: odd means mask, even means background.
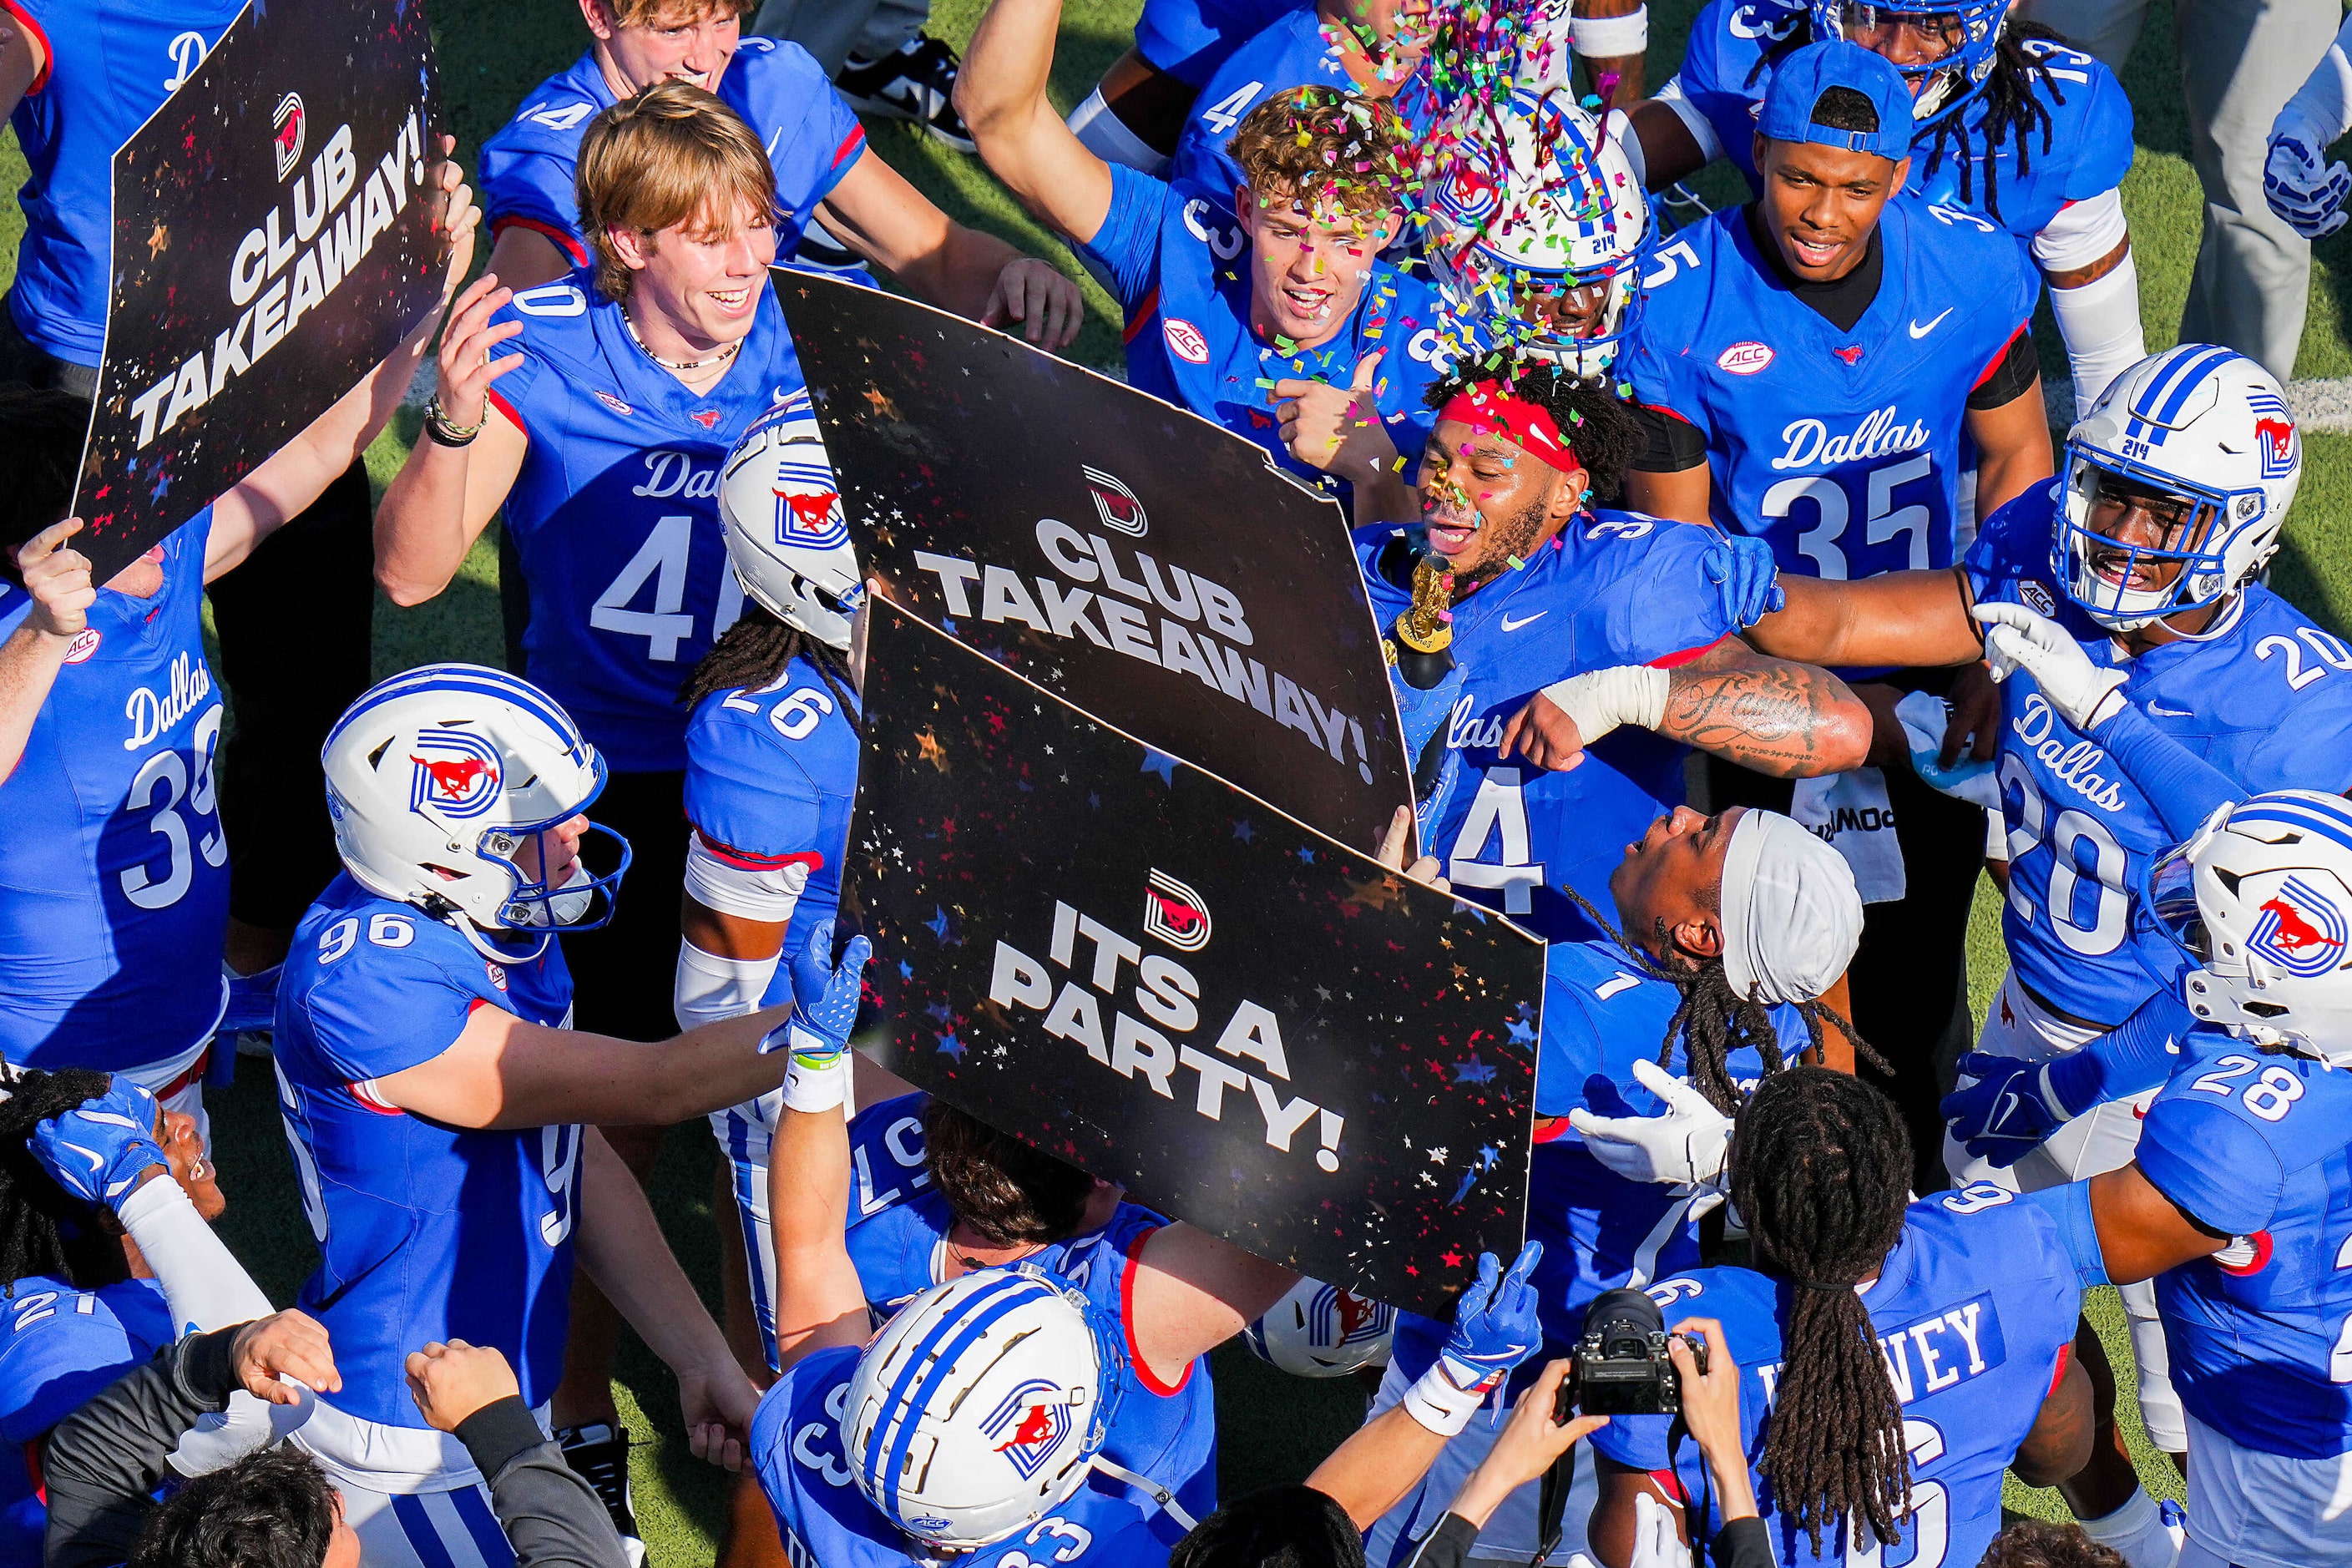
[[[880,604],[863,729],[875,1060],[1397,1307],[1517,1251],[1541,943]]]

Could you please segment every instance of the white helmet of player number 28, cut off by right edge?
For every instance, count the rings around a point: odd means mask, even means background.
[[[2150,865],[2143,903],[2197,961],[2180,994],[2199,1020],[2352,1065],[2352,802],[2272,790],[2216,811]]]

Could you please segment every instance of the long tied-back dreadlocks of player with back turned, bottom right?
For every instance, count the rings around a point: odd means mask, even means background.
[[[1764,1079],[1731,1131],[1731,1204],[1755,1262],[1792,1281],[1759,1469],[1820,1556],[1823,1526],[1884,1544],[1910,1512],[1910,1453],[1853,1286],[1903,1234],[1910,1135],[1893,1100],[1825,1067]]]

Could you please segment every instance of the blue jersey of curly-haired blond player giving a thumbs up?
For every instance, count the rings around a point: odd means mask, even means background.
[[[1421,397],[1454,355],[1442,339],[1437,292],[1385,261],[1364,277],[1355,315],[1322,348],[1282,353],[1249,324],[1249,233],[1221,212],[1204,186],[1169,186],[1110,167],[1110,216],[1082,249],[1112,280],[1127,313],[1127,378],[1138,390],[1192,409],[1256,442],[1289,473],[1329,482],[1282,444],[1272,386],[1287,378],[1350,386],[1355,362],[1381,353],[1374,402],[1388,440],[1421,461],[1437,416]]]

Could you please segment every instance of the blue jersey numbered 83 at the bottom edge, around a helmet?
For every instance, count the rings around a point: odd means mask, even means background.
[[[941,1559],[866,1500],[842,1458],[840,1413],[856,1368],[858,1352],[847,1345],[807,1356],[769,1387],[750,1422],[750,1460],[776,1509],[783,1554],[793,1568],[934,1568]],[[1138,1507],[1134,1495],[1108,1476],[1089,1476],[1037,1523],[950,1561],[955,1568],[1157,1568],[1183,1528],[1162,1509]]]

